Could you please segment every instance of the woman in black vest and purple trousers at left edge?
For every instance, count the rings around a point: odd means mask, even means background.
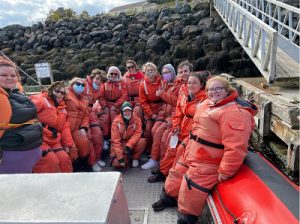
[[[0,57],[0,174],[31,173],[42,154],[43,127],[17,82],[17,66]]]

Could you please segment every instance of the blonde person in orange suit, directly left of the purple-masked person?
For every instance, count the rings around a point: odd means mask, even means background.
[[[147,152],[150,152],[152,145],[151,129],[158,117],[163,101],[156,95],[156,91],[164,87],[164,81],[157,71],[157,67],[152,62],[144,65],[144,81],[139,86],[139,101],[143,109],[146,128],[145,137],[147,138]]]

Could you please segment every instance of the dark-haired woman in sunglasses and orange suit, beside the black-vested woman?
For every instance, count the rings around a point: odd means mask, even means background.
[[[42,158],[33,168],[33,173],[72,172],[72,161],[69,157],[77,156],[67,110],[64,102],[66,94],[63,82],[53,83],[48,92],[32,95],[30,99],[37,108],[38,119],[43,124]],[[76,159],[76,158],[72,158]]]

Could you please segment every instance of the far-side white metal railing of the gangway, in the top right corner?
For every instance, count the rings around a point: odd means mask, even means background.
[[[278,31],[278,35],[300,46],[300,9],[276,0],[234,0],[252,15]]]

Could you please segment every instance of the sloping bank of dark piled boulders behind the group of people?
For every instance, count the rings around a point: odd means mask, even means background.
[[[207,3],[134,16],[11,25],[0,29],[0,48],[33,77],[35,63],[51,63],[55,80],[83,77],[93,68],[106,70],[111,65],[125,72],[129,58],[140,66],[152,61],[159,69],[188,59],[195,70],[260,76],[222,19],[209,16]]]

